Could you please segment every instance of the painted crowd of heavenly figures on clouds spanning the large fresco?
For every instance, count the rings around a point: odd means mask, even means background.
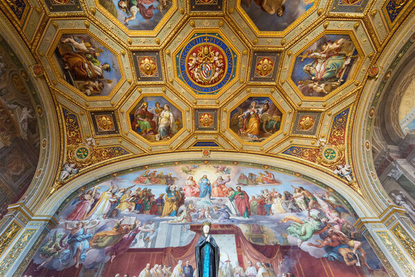
[[[324,249],[329,260],[340,260],[347,265],[364,265],[369,268],[360,241],[362,236],[345,219],[349,216],[347,210],[329,193],[311,193],[302,186],[292,186],[291,192],[286,190],[278,193],[275,188],[266,188],[260,190],[259,195],[250,197],[242,190],[243,186],[226,186],[230,181],[229,176],[219,176],[211,183],[207,175],[203,175],[197,184],[192,176],[188,177],[183,188],[174,185],[173,177],[173,181],[167,179],[166,183],[169,184],[166,184],[166,193],[155,198],[151,189],[140,188],[138,184],[145,184],[147,181],[151,184],[156,181],[152,178],[159,178],[157,176],[156,172],[146,171],[129,188],[118,188],[116,184],[111,184],[107,191],[97,193],[99,187],[96,186],[82,195],[73,211],[66,216],[66,220],[75,221],[75,226],[68,226],[68,222],[65,224],[65,229],[70,231],[66,240],[68,249],[59,248],[63,239],[60,242],[59,238],[51,239],[50,243],[44,244],[46,249],[44,254],[41,253],[43,258],[48,262],[59,255],[58,252],[63,251],[59,256],[62,264],[73,259],[78,266],[88,249],[105,249],[105,253],[112,260],[129,249],[138,233],[154,233],[153,229],[140,224],[136,217],[136,222],[127,224],[121,219],[111,231],[96,232],[94,235],[87,230],[96,225],[88,226],[80,220],[99,222],[100,219],[119,218],[119,213],[142,213],[165,218],[169,223],[189,223],[205,219],[218,223],[237,223],[252,216],[280,215],[280,224],[287,225],[286,233],[297,238],[299,247],[307,242],[310,247]],[[277,183],[273,176],[268,175],[268,178],[270,182]],[[131,190],[132,188],[135,189]],[[189,199],[185,204],[187,197]],[[218,202],[221,203],[215,205]],[[305,219],[286,215],[287,213],[300,213],[299,217]],[[321,240],[311,240],[313,235],[320,235]]]

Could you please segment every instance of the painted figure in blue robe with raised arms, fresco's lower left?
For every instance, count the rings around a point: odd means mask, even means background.
[[[66,243],[69,244],[69,249],[63,251],[59,259],[62,265],[75,262],[76,268],[80,266],[80,262],[86,258],[86,250],[89,249],[89,240],[93,237],[91,233],[86,233],[86,231],[97,225],[98,223],[86,228],[83,222],[77,222],[75,227],[69,228],[68,222],[65,222],[65,230],[71,231],[71,233],[68,235],[68,240],[66,240]]]

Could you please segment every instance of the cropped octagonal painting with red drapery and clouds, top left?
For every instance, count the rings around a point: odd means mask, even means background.
[[[172,10],[172,0],[98,0],[96,4],[129,30],[154,30]]]

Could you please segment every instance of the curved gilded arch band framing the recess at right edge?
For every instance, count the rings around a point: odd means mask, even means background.
[[[385,211],[392,202],[376,175],[371,152],[371,137],[376,120],[376,112],[378,110],[383,112],[379,107],[382,93],[385,93],[389,84],[396,79],[396,69],[400,67],[396,62],[403,63],[410,55],[409,53],[412,52],[405,49],[405,53],[400,54],[400,56],[398,53],[414,35],[415,30],[413,26],[415,18],[413,15],[414,11],[412,15],[407,17],[405,24],[401,25],[394,37],[389,40],[389,44],[380,53],[376,65],[381,67],[381,71],[377,78],[367,81],[353,118],[351,150],[356,177],[360,186],[367,188],[366,191],[369,199],[372,199],[373,205],[379,208],[380,211]],[[389,66],[391,65],[394,68],[388,73]],[[385,80],[386,75],[389,75],[387,80]]]

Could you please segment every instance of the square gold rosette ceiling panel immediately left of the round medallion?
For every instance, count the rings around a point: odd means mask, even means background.
[[[138,82],[163,82],[160,53],[135,51],[131,55]]]

